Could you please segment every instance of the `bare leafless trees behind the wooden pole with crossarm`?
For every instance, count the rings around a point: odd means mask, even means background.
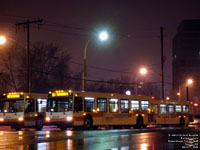
[[[4,87],[0,90],[25,91],[26,49],[9,48],[1,58],[3,73],[0,81],[4,82]],[[69,79],[66,76],[70,76],[69,60],[70,55],[53,43],[34,43],[31,47],[32,92],[68,88]]]

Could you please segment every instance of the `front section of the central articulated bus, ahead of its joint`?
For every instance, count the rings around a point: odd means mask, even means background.
[[[151,96],[142,95],[58,90],[49,93],[45,124],[61,129],[104,125],[146,127],[149,121],[154,121],[152,100]]]

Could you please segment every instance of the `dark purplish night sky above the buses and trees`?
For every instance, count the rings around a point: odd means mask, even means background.
[[[199,0],[2,0],[0,2],[0,33],[25,43],[26,33],[16,33],[15,23],[42,18],[40,30],[31,28],[31,42],[55,42],[67,50],[72,61],[83,63],[86,31],[107,28],[112,40],[101,45],[91,42],[87,49],[87,64],[110,70],[128,71],[136,76],[140,66],[151,71],[148,80],[159,81],[160,26],[164,27],[166,81],[171,83],[172,39],[183,19],[200,19]],[[56,23],[56,26],[48,24]],[[58,24],[73,28],[59,28]],[[81,30],[77,30],[81,28]],[[76,69],[82,66],[72,65]],[[88,68],[88,79],[125,75]],[[170,87],[170,86],[169,86]],[[168,90],[169,92],[169,90]]]

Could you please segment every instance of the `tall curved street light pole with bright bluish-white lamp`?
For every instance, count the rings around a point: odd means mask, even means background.
[[[102,31],[99,33],[98,35],[98,39],[100,39],[101,41],[106,41],[108,39],[108,33],[106,31]],[[86,43],[85,43],[85,47],[84,47],[84,70],[83,70],[83,74],[82,74],[82,91],[86,91],[86,72],[87,72],[87,48],[89,43],[93,40],[93,37],[91,37]]]

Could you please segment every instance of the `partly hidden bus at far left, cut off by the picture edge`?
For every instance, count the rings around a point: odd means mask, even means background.
[[[41,130],[44,123],[48,94],[12,92],[1,99],[0,126],[16,130],[35,127]]]

